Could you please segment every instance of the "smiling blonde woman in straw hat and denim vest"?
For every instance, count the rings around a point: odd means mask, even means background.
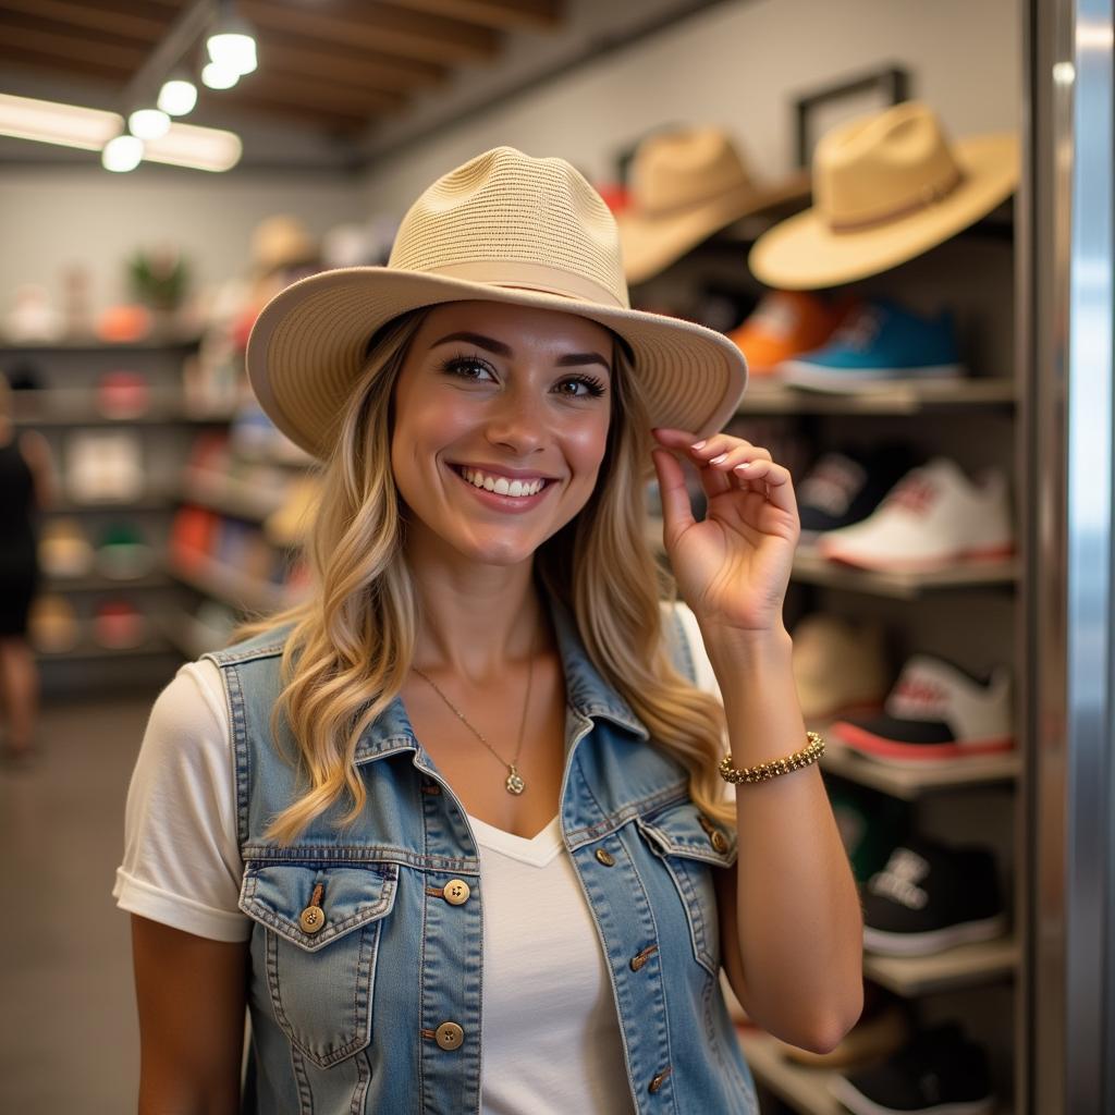
[[[114,892],[140,1109],[237,1109],[246,1002],[246,1111],[755,1112],[721,964],[827,1049],[862,928],[782,627],[791,479],[716,433],[738,350],[629,310],[600,197],[502,147],[386,268],[279,294],[248,366],[326,462],[314,589],[153,709]]]

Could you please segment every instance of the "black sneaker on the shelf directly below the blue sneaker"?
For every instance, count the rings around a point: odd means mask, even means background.
[[[797,487],[802,541],[863,522],[914,467],[913,452],[901,443],[872,453],[822,454]]]

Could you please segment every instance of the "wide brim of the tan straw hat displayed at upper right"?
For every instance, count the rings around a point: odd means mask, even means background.
[[[814,207],[764,233],[748,255],[752,273],[782,290],[820,290],[905,263],[954,236],[1006,201],[1018,185],[1015,135],[972,136],[956,145],[961,183],[933,205],[885,224],[833,232]]]

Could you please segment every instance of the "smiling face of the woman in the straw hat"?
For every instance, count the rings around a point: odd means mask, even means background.
[[[394,395],[391,466],[411,539],[486,564],[529,559],[595,486],[611,363],[611,333],[572,313],[484,301],[430,310]],[[514,494],[537,481],[536,494]]]

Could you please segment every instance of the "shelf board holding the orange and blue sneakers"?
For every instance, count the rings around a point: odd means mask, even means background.
[[[811,391],[777,380],[753,377],[738,415],[917,415],[927,410],[967,407],[1012,407],[1017,389],[1011,379],[975,377],[886,384],[855,394]]]

